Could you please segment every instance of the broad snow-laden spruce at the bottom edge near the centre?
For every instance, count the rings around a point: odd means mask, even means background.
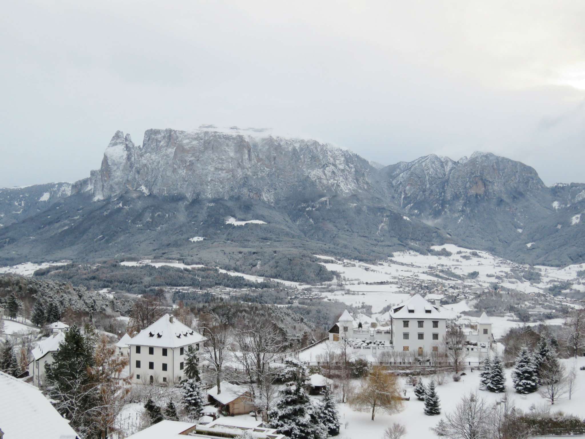
[[[280,390],[280,400],[276,409],[268,413],[270,427],[291,439],[325,439],[327,428],[316,416],[302,382],[297,379],[296,386],[286,386]]]

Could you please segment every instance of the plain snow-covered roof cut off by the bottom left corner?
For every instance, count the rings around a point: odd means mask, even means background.
[[[0,428],[7,439],[78,437],[35,386],[0,372],[0,394]]]

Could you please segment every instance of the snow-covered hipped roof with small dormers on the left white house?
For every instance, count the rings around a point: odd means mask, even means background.
[[[164,314],[163,317],[149,327],[144,328],[126,344],[130,346],[178,348],[193,343],[201,343],[206,339],[199,332],[178,321],[173,315]]]

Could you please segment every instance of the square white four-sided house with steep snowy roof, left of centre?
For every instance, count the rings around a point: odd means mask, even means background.
[[[199,351],[206,340],[165,314],[128,341],[130,373],[135,383],[175,383],[184,376],[188,347]]]

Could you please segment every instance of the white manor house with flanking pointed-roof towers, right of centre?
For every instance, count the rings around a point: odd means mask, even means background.
[[[329,330],[329,341],[347,342],[353,349],[369,349],[377,358],[380,351],[407,351],[412,356],[428,356],[438,351],[453,313],[415,294],[393,306],[386,325],[362,323],[345,310],[338,323]],[[467,353],[487,352],[491,347],[491,322],[483,313],[477,325],[461,326],[466,338]]]

